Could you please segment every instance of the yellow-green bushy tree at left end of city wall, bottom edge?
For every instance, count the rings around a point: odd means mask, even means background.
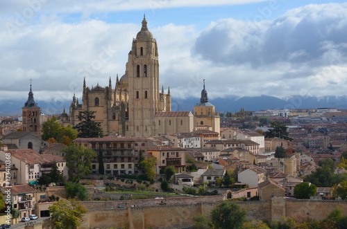
[[[55,228],[65,229],[81,226],[81,219],[88,211],[75,199],[60,199],[49,206],[49,212]]]

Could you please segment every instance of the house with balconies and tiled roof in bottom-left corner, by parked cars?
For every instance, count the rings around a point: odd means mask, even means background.
[[[29,217],[29,214],[35,214],[35,192],[36,190],[29,185],[15,185],[10,187],[1,187],[3,199],[7,199],[10,194],[10,203],[13,209],[18,209],[19,218]]]

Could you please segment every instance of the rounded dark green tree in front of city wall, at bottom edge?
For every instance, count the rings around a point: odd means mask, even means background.
[[[211,212],[212,225],[216,229],[241,228],[246,221],[247,211],[234,202],[223,202]]]

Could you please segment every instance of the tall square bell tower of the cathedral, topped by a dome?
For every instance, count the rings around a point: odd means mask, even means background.
[[[128,75],[129,117],[126,136],[149,137],[155,134],[155,113],[171,110],[162,106],[167,96],[160,93],[157,42],[147,28],[146,17],[142,28],[133,39],[126,63]],[[168,98],[171,98],[169,96]],[[171,105],[171,101],[165,101]]]

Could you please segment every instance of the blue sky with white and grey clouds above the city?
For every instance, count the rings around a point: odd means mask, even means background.
[[[173,98],[347,95],[347,3],[0,1],[0,104],[66,101],[124,75],[146,15]],[[32,81],[31,81],[32,80]]]

